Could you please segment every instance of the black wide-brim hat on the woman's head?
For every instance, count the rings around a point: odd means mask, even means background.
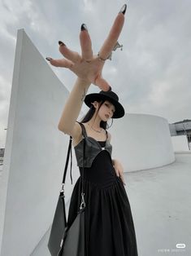
[[[119,97],[112,90],[100,90],[99,93],[91,93],[85,96],[85,104],[91,108],[93,101],[108,100],[115,106],[115,113],[112,118],[124,117],[124,107],[119,103]]]

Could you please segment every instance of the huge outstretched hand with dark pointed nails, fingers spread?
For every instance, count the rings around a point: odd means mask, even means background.
[[[92,42],[89,37],[88,29],[85,24],[82,24],[80,31],[81,55],[76,51],[70,50],[63,42],[59,41],[59,51],[65,58],[59,60],[46,58],[46,60],[49,60],[50,64],[55,67],[69,68],[77,77],[93,83],[95,86],[98,86],[100,90],[109,90],[110,85],[102,77],[102,68],[105,64],[105,60],[111,55],[111,51],[118,41],[119,34],[124,25],[126,8],[127,5],[124,4],[116,16],[111,31],[98,55],[93,55]]]

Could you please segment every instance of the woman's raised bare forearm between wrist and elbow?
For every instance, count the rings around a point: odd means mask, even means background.
[[[90,82],[86,82],[85,80],[77,77],[72,91],[63,108],[63,113],[58,125],[59,130],[62,130],[64,133],[68,133],[70,130],[72,130],[75,121],[79,116],[80,109],[84,102],[85,95],[89,90],[90,84]]]

